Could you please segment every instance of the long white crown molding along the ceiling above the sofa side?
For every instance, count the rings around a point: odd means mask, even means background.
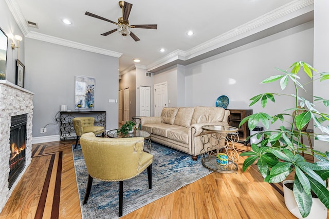
[[[278,25],[288,19],[297,17],[301,14],[307,13],[313,10],[314,0],[295,0],[291,1],[275,10],[272,10],[260,17],[253,19],[237,28],[234,28],[226,33],[218,35],[209,41],[199,44],[189,50],[175,50],[166,56],[157,59],[154,63],[147,66],[147,69],[152,69],[165,66],[177,59],[181,61],[187,61],[198,55],[202,55],[211,50],[228,45],[241,38],[249,36],[251,34],[260,32],[272,26]],[[299,12],[299,13],[298,13]]]

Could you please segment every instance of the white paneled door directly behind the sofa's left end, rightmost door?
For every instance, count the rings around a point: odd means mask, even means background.
[[[168,106],[167,82],[154,85],[154,114],[160,116],[163,107]]]

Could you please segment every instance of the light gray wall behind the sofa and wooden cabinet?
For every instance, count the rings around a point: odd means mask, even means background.
[[[228,109],[253,109],[275,115],[293,107],[291,98],[276,97],[275,105],[249,107],[249,99],[264,92],[281,92],[279,82],[263,85],[268,76],[280,74],[297,61],[313,65],[313,23],[307,23],[263,38],[240,48],[186,66],[186,106],[215,106],[218,96],[227,95]],[[312,100],[313,86],[306,86]],[[294,93],[292,88],[288,92]],[[288,92],[289,93],[289,92]],[[275,106],[275,107],[274,107]],[[278,107],[280,110],[278,110]]]

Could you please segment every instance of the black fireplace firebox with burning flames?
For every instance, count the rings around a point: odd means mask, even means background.
[[[27,114],[11,117],[9,189],[25,167],[26,124]]]

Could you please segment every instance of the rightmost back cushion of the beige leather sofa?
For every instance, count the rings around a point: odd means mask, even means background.
[[[191,124],[214,123],[223,121],[225,109],[222,107],[196,106],[193,112]]]

